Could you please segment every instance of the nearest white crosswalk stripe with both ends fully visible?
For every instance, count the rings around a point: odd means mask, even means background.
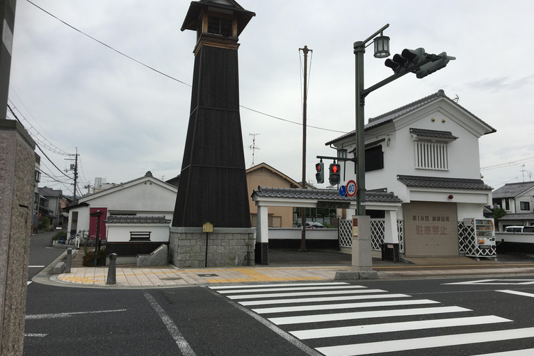
[[[437,327],[458,327],[493,323],[508,323],[511,320],[499,316],[469,316],[467,318],[448,318],[423,321],[405,321],[401,323],[383,323],[345,327],[325,327],[323,329],[296,330],[289,333],[298,339],[320,339],[323,337],[347,337],[353,335],[378,334],[381,332],[398,332],[408,330],[435,329]]]

